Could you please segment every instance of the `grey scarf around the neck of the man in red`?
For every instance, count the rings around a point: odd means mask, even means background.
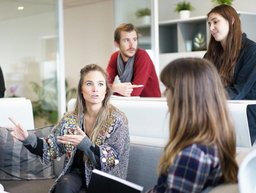
[[[137,53],[137,50],[138,49],[136,49],[134,56],[128,59],[125,67],[124,67],[123,58],[119,51],[118,56],[117,56],[117,71],[119,74],[119,80],[121,82],[131,82],[132,81],[133,64],[134,64],[134,58]]]

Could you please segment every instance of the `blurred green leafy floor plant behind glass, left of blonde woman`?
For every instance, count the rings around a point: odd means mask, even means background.
[[[44,86],[40,86],[37,82],[30,82],[33,91],[38,96],[37,101],[32,101],[34,119],[43,118],[45,124],[55,124],[58,121],[58,102],[57,102],[57,79],[47,79],[42,82]],[[67,90],[66,84],[66,100],[75,97],[76,89]]]

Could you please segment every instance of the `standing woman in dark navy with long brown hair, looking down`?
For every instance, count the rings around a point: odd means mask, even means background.
[[[208,14],[211,38],[204,58],[218,69],[231,100],[256,100],[256,43],[241,31],[236,10],[229,5],[214,7]],[[256,139],[256,105],[248,105],[251,144]]]

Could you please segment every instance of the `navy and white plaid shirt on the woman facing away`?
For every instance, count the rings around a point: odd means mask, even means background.
[[[217,145],[192,144],[180,151],[152,192],[201,192],[223,181]]]

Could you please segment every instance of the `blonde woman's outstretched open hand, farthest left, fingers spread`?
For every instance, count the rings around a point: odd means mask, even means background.
[[[28,138],[28,132],[24,127],[22,127],[19,123],[16,123],[11,117],[9,117],[10,121],[14,124],[14,126],[4,126],[5,129],[10,129],[12,132],[10,133],[13,141],[16,140],[24,141]]]

